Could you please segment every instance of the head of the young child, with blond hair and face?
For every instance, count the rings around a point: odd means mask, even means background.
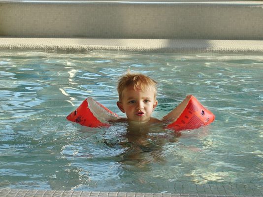
[[[148,122],[156,100],[157,82],[143,74],[126,74],[119,79],[119,109],[126,113],[129,121]]]

